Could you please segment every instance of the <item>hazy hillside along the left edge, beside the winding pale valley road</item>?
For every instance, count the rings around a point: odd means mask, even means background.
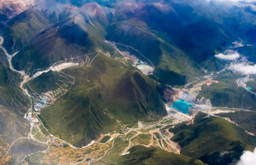
[[[5,65],[7,60],[2,50],[0,50],[0,59],[0,135],[7,142],[13,142],[17,137],[27,136],[28,124],[23,116],[30,102],[19,88],[20,75],[12,72]]]

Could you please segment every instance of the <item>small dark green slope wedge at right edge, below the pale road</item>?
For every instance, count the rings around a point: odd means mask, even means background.
[[[230,118],[240,127],[244,128],[244,130],[256,135],[256,112],[236,111],[235,113],[222,113],[219,116]]]

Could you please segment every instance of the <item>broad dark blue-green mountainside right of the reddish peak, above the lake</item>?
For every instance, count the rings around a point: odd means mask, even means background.
[[[222,24],[176,2],[118,6],[105,38],[140,51],[143,57],[137,57],[155,66],[154,79],[169,85],[196,79],[204,74],[200,66],[221,70],[225,63],[212,58],[232,43],[232,34]]]

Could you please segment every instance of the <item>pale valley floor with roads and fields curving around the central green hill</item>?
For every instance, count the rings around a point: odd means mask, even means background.
[[[4,39],[1,37],[1,43],[3,43]],[[61,96],[66,94],[70,88],[74,85],[74,77],[72,75],[68,75],[62,72],[62,69],[74,67],[74,66],[90,66],[93,62],[94,58],[96,58],[101,51],[94,52],[92,54],[86,54],[76,58],[69,58],[63,61],[59,61],[54,63],[49,68],[38,69],[37,72],[34,72],[33,75],[25,75],[24,71],[16,71],[12,67],[12,63],[10,60],[14,55],[9,55],[7,51],[5,51],[4,47],[1,46],[1,49],[5,52],[10,64],[10,69],[12,71],[20,73],[24,78],[23,82],[21,82],[20,88],[24,91],[24,96],[28,97],[31,100],[31,108],[26,113],[25,118],[27,118],[30,122],[30,133],[27,137],[18,138],[12,144],[10,144],[9,149],[12,149],[12,146],[16,145],[18,141],[21,139],[32,139],[41,144],[45,144],[47,149],[41,152],[29,153],[28,155],[24,155],[23,160],[19,164],[26,164],[31,162],[34,159],[34,156],[39,156],[37,162],[41,164],[47,163],[65,163],[65,164],[90,164],[99,163],[105,155],[108,154],[115,146],[116,139],[122,139],[125,144],[125,148],[120,155],[129,154],[129,150],[134,146],[145,146],[145,147],[160,147],[160,149],[166,150],[168,152],[174,152],[180,154],[180,146],[176,142],[172,141],[171,138],[174,136],[173,133],[169,132],[169,128],[175,127],[175,125],[179,125],[180,123],[190,121],[191,124],[194,124],[194,115],[189,116],[188,114],[181,113],[180,111],[175,110],[174,108],[170,108],[169,105],[166,105],[166,110],[168,111],[168,116],[160,119],[157,122],[153,123],[144,123],[138,122],[138,125],[133,125],[132,127],[122,125],[120,121],[116,121],[115,131],[111,133],[107,133],[105,135],[101,135],[100,139],[96,141],[91,141],[90,144],[84,146],[82,148],[75,147],[73,144],[59,138],[59,136],[54,136],[49,132],[48,128],[44,127],[43,122],[40,118],[38,118],[38,114],[44,107],[51,106],[54,102],[59,99]],[[123,52],[116,49],[120,54]],[[89,56],[93,55],[94,56]],[[91,57],[91,61],[90,61]],[[126,55],[127,57],[127,55]],[[135,56],[133,56],[135,57]],[[83,61],[82,59],[85,59]],[[130,57],[129,57],[130,58]],[[134,59],[137,60],[135,57]],[[235,63],[236,61],[234,61]],[[231,63],[230,65],[232,65]],[[177,99],[185,99],[191,104],[193,104],[193,111],[204,111],[205,113],[210,115],[218,114],[219,109],[221,112],[229,113],[230,111],[241,111],[240,108],[220,108],[220,107],[212,107],[210,104],[201,104],[201,100],[196,99],[197,94],[201,90],[202,85],[210,86],[211,82],[218,83],[214,79],[221,75],[226,69],[229,69],[227,66],[220,72],[211,73],[210,75],[204,75],[198,77],[198,79],[194,82],[188,83],[182,89],[176,89],[179,91],[179,96]],[[32,80],[36,80],[37,77],[40,77],[43,74],[51,72],[60,72],[59,86],[55,91],[48,91],[46,93],[38,93],[34,91],[30,86],[29,82]],[[241,81],[238,81],[241,83]],[[29,90],[24,89],[24,85],[29,88]],[[32,94],[31,94],[32,93]],[[247,110],[248,111],[248,110]],[[28,116],[28,117],[27,117]],[[230,121],[232,122],[232,121]],[[248,132],[249,133],[249,132]],[[110,137],[104,143],[100,142],[104,137]],[[7,152],[9,151],[7,150]],[[74,150],[76,152],[74,153]],[[59,153],[59,154],[56,154]],[[70,154],[73,153],[73,154]],[[40,155],[38,155],[40,154]]]

